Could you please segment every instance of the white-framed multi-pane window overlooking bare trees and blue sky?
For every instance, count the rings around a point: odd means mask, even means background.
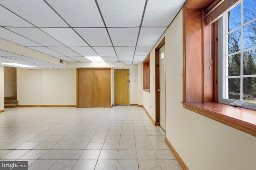
[[[250,109],[256,109],[255,11],[256,0],[244,0],[218,22],[223,28],[219,34],[223,40],[219,46],[219,102],[237,102]]]

